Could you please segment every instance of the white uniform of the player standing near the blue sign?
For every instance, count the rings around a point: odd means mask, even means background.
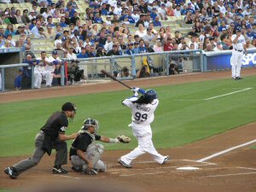
[[[236,38],[236,34],[232,35],[232,42]],[[232,65],[232,78],[240,78],[241,72],[241,61],[243,57],[243,45],[246,44],[245,38],[241,35],[236,44],[233,44],[233,51],[232,51],[232,58],[231,58],[231,65]]]

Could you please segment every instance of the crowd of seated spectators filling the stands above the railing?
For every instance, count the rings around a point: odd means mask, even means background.
[[[256,47],[256,0],[83,0],[83,9],[77,0],[1,3],[29,5],[22,11],[0,6],[0,48],[20,47],[30,54],[32,38],[52,39],[52,50],[73,60],[184,49],[221,51],[232,49],[231,36],[238,27],[247,48]],[[166,21],[173,18],[183,18],[191,31],[172,31]]]

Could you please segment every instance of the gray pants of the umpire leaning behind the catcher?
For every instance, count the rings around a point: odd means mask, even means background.
[[[35,138],[35,149],[33,151],[32,157],[26,160],[21,160],[19,163],[15,164],[13,167],[18,174],[25,172],[26,170],[37,166],[45,152],[42,149],[44,144],[44,132],[40,131]],[[56,149],[55,155],[55,166],[61,166],[67,164],[67,143],[56,140],[53,143],[53,148]]]

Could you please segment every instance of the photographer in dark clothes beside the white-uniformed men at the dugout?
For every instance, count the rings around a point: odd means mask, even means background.
[[[71,61],[68,66],[67,78],[70,84],[78,82],[81,80],[82,75],[84,74],[84,70],[79,69],[79,61]]]

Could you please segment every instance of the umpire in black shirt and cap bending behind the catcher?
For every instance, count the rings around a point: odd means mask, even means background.
[[[53,113],[46,124],[38,132],[35,138],[35,149],[32,157],[21,160],[14,166],[9,166],[4,169],[4,172],[10,178],[16,178],[21,172],[37,166],[45,153],[51,154],[52,148],[55,148],[55,166],[52,169],[54,174],[67,174],[67,170],[61,165],[67,164],[67,143],[65,141],[75,139],[77,133],[70,136],[65,135],[68,126],[68,119],[73,119],[76,114],[76,106],[71,102],[66,102],[62,105],[61,111]]]

